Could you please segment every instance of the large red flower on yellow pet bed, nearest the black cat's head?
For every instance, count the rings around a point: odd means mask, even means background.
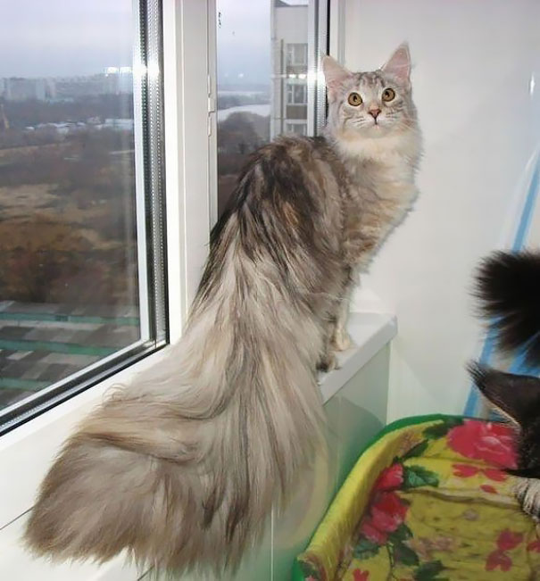
[[[466,419],[446,436],[454,452],[466,458],[483,460],[494,466],[515,468],[514,437],[511,428],[493,422]]]

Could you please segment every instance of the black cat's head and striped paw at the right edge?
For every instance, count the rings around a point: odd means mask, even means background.
[[[471,365],[480,392],[516,427],[516,495],[523,510],[540,519],[540,379]]]

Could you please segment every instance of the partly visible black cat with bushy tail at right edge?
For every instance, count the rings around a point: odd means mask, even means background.
[[[521,350],[530,369],[540,367],[540,252],[494,253],[477,276],[481,312],[499,348]],[[488,403],[516,427],[515,494],[540,519],[540,378],[504,373],[478,363],[470,372]]]

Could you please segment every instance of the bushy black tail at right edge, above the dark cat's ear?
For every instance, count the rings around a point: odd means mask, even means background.
[[[540,253],[497,252],[481,264],[477,295],[499,347],[540,363]]]

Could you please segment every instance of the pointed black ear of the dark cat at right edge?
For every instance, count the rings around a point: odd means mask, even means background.
[[[469,373],[494,407],[521,424],[540,412],[540,379],[469,363]]]

